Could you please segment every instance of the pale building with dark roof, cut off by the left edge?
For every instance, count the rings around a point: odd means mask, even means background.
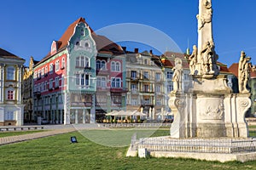
[[[0,126],[23,125],[21,98],[25,59],[0,48]]]

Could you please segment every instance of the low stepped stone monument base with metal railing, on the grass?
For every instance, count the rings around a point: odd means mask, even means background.
[[[206,161],[255,161],[255,139],[172,139],[155,137],[139,139],[131,144],[126,156],[137,156],[140,149],[154,157],[183,157]]]

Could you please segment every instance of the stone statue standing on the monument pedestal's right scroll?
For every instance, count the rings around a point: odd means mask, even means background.
[[[239,86],[239,93],[247,94],[249,91],[247,90],[247,82],[249,80],[250,75],[250,57],[246,57],[244,51],[241,51],[241,56],[239,59],[238,65],[238,86]]]

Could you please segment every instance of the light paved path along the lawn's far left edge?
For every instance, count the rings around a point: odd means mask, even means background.
[[[3,144],[13,144],[17,142],[22,142],[31,139],[39,139],[48,136],[53,136],[56,134],[61,133],[70,133],[76,131],[73,126],[45,126],[44,129],[47,129],[45,132],[40,133],[29,133],[29,134],[22,134],[17,136],[9,136],[0,138],[0,145]]]

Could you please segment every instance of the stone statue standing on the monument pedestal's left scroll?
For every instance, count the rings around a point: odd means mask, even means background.
[[[182,91],[182,77],[183,77],[183,65],[182,65],[182,59],[175,59],[175,66],[172,68],[173,76],[172,76],[172,82],[173,82],[173,90],[172,94],[175,94],[177,92]]]

